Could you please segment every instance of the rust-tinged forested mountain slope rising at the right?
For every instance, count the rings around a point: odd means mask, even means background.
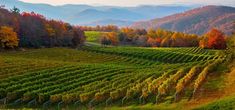
[[[213,27],[230,34],[234,29],[235,8],[227,6],[205,6],[160,19],[136,22],[131,27],[203,34]]]

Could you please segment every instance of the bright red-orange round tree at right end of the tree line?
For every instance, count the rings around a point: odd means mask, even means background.
[[[227,47],[225,35],[221,31],[214,28],[206,36],[208,37],[208,48],[225,49]]]

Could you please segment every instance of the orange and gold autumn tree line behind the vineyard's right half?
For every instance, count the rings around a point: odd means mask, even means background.
[[[164,29],[144,30],[121,28],[118,31],[103,33],[100,37],[102,45],[135,45],[145,47],[202,47],[210,49],[226,49],[226,35],[216,28],[203,36],[172,32]]]

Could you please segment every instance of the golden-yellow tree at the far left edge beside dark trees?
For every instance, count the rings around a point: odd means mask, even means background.
[[[0,48],[14,48],[18,46],[17,33],[13,28],[2,26],[0,29]]]

